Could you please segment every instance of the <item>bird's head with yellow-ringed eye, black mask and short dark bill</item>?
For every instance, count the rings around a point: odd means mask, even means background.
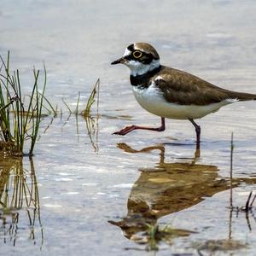
[[[137,76],[160,67],[160,57],[154,47],[147,43],[134,43],[125,49],[124,55],[111,64],[125,64],[131,75]]]

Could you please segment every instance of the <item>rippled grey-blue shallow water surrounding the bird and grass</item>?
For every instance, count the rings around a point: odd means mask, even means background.
[[[1,253],[152,254],[138,241],[145,238],[146,223],[157,223],[194,231],[160,242],[157,255],[205,254],[212,247],[217,255],[253,255],[256,223],[252,213],[230,211],[229,177],[233,131],[233,206],[242,207],[256,190],[255,102],[200,120],[200,155],[186,121],[168,120],[161,133],[113,136],[125,125],[159,125],[160,119],[135,102],[127,68],[109,63],[131,42],[146,41],[166,65],[256,93],[256,3],[2,2],[1,55],[10,49],[25,91],[32,66],[45,61],[47,96],[63,115],[51,125],[51,117],[44,119],[32,161],[0,160]],[[85,120],[68,118],[61,99],[74,109],[79,91],[85,101],[97,78],[99,119],[90,138]],[[229,247],[227,240],[242,246]]]

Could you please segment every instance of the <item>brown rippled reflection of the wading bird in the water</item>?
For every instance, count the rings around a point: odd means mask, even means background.
[[[230,189],[230,178],[220,177],[217,166],[197,163],[200,160],[198,149],[190,159],[166,162],[166,146],[162,144],[137,150],[119,143],[118,148],[131,154],[160,151],[159,163],[154,168],[138,169],[141,174],[131,188],[127,215],[119,221],[109,220],[110,224],[121,228],[126,238],[137,243],[149,242],[139,236],[146,236],[148,226],[156,225],[159,218],[193,207],[206,197]],[[232,188],[240,183],[256,183],[256,179],[232,178]],[[191,232],[186,231],[189,236]]]

